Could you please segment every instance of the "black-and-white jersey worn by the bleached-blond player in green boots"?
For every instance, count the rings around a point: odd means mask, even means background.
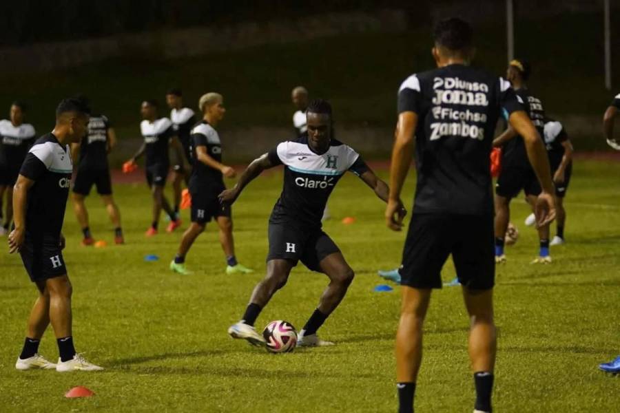
[[[189,185],[193,190],[224,186],[222,172],[219,169],[211,168],[198,160],[196,147],[205,147],[207,155],[218,162],[222,162],[222,146],[220,136],[206,120],[203,120],[192,129],[192,176],[189,178]]]

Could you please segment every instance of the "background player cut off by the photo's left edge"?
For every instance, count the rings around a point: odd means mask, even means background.
[[[0,235],[8,233],[11,225],[13,185],[17,182],[21,163],[36,138],[34,127],[24,123],[25,112],[25,105],[16,101],[11,105],[9,120],[0,120],[0,209],[6,193],[6,214],[0,226]]]

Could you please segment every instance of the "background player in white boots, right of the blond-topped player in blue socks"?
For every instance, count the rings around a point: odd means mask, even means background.
[[[556,235],[549,243],[550,246],[561,245],[564,239],[564,226],[566,224],[566,209],[564,209],[564,197],[570,184],[572,175],[572,143],[566,134],[566,129],[557,120],[546,118],[544,139],[551,165],[551,175],[555,184],[555,211],[556,211]],[[527,226],[536,222],[534,213],[530,213],[525,220]]]

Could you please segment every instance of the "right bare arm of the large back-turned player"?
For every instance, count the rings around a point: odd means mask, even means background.
[[[528,159],[540,182],[542,192],[538,195],[535,214],[537,226],[544,226],[555,219],[555,187],[551,178],[549,158],[543,141],[526,112],[518,110],[510,114],[510,125],[513,125],[523,137]]]

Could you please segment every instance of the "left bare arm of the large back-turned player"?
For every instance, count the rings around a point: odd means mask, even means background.
[[[417,114],[415,112],[402,112],[398,115],[390,167],[390,189],[385,210],[386,224],[393,231],[400,231],[403,226],[404,214],[401,211],[400,193],[413,158],[416,127]]]

